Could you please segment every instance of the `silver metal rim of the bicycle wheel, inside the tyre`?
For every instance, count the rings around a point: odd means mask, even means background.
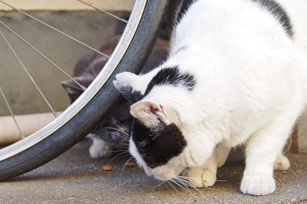
[[[84,93],[61,115],[55,118],[48,125],[26,137],[23,140],[15,142],[14,144],[0,149],[0,162],[9,159],[20,152],[32,147],[40,141],[48,138],[51,134],[60,129],[61,126],[70,121],[74,116],[85,107],[89,101],[99,92],[103,85],[109,80],[112,73],[115,71],[117,65],[123,58],[126,50],[132,41],[134,34],[141,21],[144,8],[147,0],[136,0],[133,11],[131,12],[129,21],[122,34],[122,37],[114,50],[113,55],[106,63],[105,67],[98,74],[93,83],[84,91]]]

